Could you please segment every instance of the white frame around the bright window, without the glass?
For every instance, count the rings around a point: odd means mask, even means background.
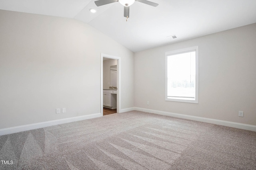
[[[167,88],[168,88],[168,84],[167,84],[167,67],[168,67],[168,63],[167,63],[167,58],[170,55],[176,55],[176,54],[180,54],[180,53],[188,53],[190,51],[196,51],[196,94],[195,94],[195,100],[186,100],[186,99],[173,99],[173,98],[168,98],[167,97]],[[198,104],[198,46],[194,46],[194,47],[188,47],[188,48],[184,48],[184,49],[178,49],[178,50],[174,50],[174,51],[168,51],[165,53],[165,100],[166,101],[173,101],[173,102],[186,102],[186,103],[195,103]]]

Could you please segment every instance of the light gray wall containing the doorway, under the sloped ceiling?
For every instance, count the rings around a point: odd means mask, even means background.
[[[121,109],[133,107],[132,51],[80,21],[0,10],[0,129],[100,113],[101,53],[125,63]]]

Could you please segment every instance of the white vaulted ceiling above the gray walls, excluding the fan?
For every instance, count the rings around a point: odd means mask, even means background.
[[[0,9],[74,18],[134,52],[256,23],[256,0],[150,1],[159,5],[134,2],[128,21],[119,2],[97,7],[94,0],[0,0]]]

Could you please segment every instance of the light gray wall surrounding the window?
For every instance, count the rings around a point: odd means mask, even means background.
[[[165,52],[197,45],[199,104],[165,101]],[[135,107],[256,125],[256,23],[141,51],[134,63]]]

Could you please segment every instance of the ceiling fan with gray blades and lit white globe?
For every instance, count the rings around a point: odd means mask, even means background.
[[[124,6],[124,17],[129,18],[130,5],[132,5],[135,1],[142,2],[144,4],[148,4],[150,6],[158,6],[158,4],[154,2],[150,2],[148,0],[97,0],[95,1],[96,6],[102,6],[106,4],[111,4],[113,2],[120,2]],[[127,21],[127,19],[126,19]]]

